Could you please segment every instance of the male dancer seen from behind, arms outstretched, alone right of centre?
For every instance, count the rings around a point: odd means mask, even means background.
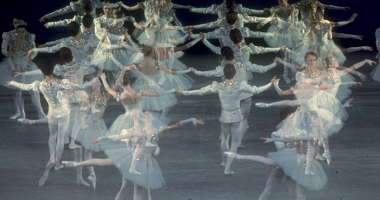
[[[185,96],[204,95],[211,93],[219,94],[220,103],[222,104],[222,114],[219,119],[223,133],[221,141],[222,155],[224,155],[224,152],[228,150],[231,152],[236,152],[238,148],[238,142],[241,138],[241,129],[239,129],[239,127],[241,121],[243,120],[243,115],[240,108],[240,93],[244,92],[251,94],[260,94],[261,92],[269,89],[276,78],[274,77],[270,83],[264,86],[256,87],[250,86],[246,82],[235,82],[233,78],[236,74],[236,70],[233,64],[227,64],[223,68],[223,73],[225,77],[224,82],[217,83],[214,81],[211,85],[203,87],[199,90],[183,91],[181,88],[179,88],[179,91],[177,91],[178,94]],[[232,136],[232,142],[231,148],[229,149],[228,139],[230,133]],[[231,164],[231,159],[226,160],[223,157],[223,162],[221,165],[225,167],[225,175],[234,174],[234,172],[230,169]]]

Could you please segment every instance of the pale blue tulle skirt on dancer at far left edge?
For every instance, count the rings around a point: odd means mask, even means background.
[[[37,65],[34,64],[33,62],[29,61],[27,66],[26,66],[26,71],[34,71],[34,70],[38,70]],[[20,69],[17,69],[17,67],[16,67],[15,71],[20,72]],[[5,86],[7,84],[7,81],[16,81],[19,83],[31,84],[34,81],[42,81],[44,79],[45,79],[45,77],[42,74],[12,77],[11,66],[10,66],[8,60],[5,58],[0,63],[0,84],[2,86]],[[16,89],[14,87],[9,87],[9,88]]]

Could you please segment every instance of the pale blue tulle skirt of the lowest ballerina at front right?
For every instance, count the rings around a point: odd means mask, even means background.
[[[287,176],[308,190],[320,190],[327,183],[326,173],[321,164],[315,159],[311,162],[310,168],[310,171],[315,174],[305,174],[306,155],[297,153],[296,149],[285,149],[269,153],[268,157],[274,159]]]

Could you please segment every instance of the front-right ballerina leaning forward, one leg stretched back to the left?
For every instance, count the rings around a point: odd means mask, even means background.
[[[351,101],[352,99],[349,99],[344,104],[344,107],[350,107]],[[334,123],[336,120],[338,119],[334,118],[325,126],[322,126],[322,128],[319,131],[321,132],[328,131],[328,129],[334,126]],[[310,121],[310,126],[312,126],[313,129],[319,129],[320,125],[321,125],[320,121],[317,118]],[[259,163],[269,165],[269,166],[281,167],[287,176],[291,177],[293,180],[297,182],[297,184],[301,185],[302,187],[305,187],[306,189],[312,190],[312,191],[320,190],[326,185],[327,176],[321,164],[319,164],[319,162],[313,160],[311,161],[310,164],[308,164],[308,161],[307,161],[308,160],[307,157],[309,156],[308,155],[309,150],[311,148],[317,147],[318,139],[314,138],[312,141],[310,141],[311,139],[310,137],[305,137],[304,135],[302,135],[302,132],[297,132],[294,128],[295,127],[293,127],[294,132],[289,133],[288,137],[271,138],[271,139],[260,138],[260,139],[265,140],[264,143],[279,141],[279,142],[285,142],[285,144],[290,143],[290,145],[295,144],[297,147],[306,146],[308,148],[307,155],[304,155],[302,150],[297,151],[296,148],[290,148],[290,149],[286,148],[275,153],[269,153],[268,154],[269,158],[256,156],[256,155],[239,155],[233,152],[226,152],[225,154],[229,158],[250,160],[250,161],[259,162]],[[306,169],[304,165],[306,165]],[[313,169],[312,175],[310,173],[306,173],[308,165],[310,165],[311,168]]]

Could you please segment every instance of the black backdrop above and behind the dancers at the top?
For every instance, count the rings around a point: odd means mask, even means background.
[[[15,14],[21,14],[24,16],[25,21],[28,23],[29,32],[34,33],[36,35],[36,43],[43,44],[47,41],[59,39],[62,37],[66,37],[65,28],[50,28],[46,29],[43,26],[43,23],[39,23],[38,19],[52,11],[55,11],[59,8],[62,8],[69,4],[69,0],[12,0],[12,1],[2,1],[1,4],[1,12],[0,17],[3,20],[0,32],[10,31],[13,29],[12,19]],[[137,0],[124,1],[124,3],[128,6],[136,5]],[[222,0],[174,0],[174,3],[180,5],[192,5],[194,7],[207,7],[211,4],[220,4]],[[237,0],[237,3],[243,4],[244,7],[253,8],[253,9],[263,9],[270,8],[272,6],[278,5],[276,0],[268,1],[268,0]],[[295,0],[289,0],[289,3],[295,3]],[[336,6],[349,6],[351,7],[351,11],[342,11],[342,10],[329,10],[326,9],[325,19],[338,22],[342,20],[347,20],[351,17],[352,14],[358,13],[358,18],[351,24],[335,28],[335,32],[340,33],[348,33],[348,34],[359,34],[363,35],[363,41],[358,41],[354,39],[344,39],[337,40],[334,39],[335,42],[345,48],[352,46],[372,46],[375,48],[375,30],[380,26],[378,20],[380,18],[379,14],[379,6],[380,3],[374,0],[349,0],[349,1],[341,1],[341,0],[325,0],[322,1],[325,4],[331,4]],[[133,15],[137,21],[141,21],[144,19],[143,10],[137,10],[133,12],[129,12],[123,9],[126,15]],[[98,10],[100,13],[101,10]],[[183,25],[195,25],[205,22],[214,21],[217,18],[217,15],[212,14],[198,14],[198,13],[190,13],[189,10],[179,9],[176,11],[176,14],[179,20]],[[52,18],[48,21],[57,21],[60,19],[72,18],[74,13],[70,13],[64,16],[59,16]],[[129,29],[129,32],[132,33],[134,27],[130,22],[126,22],[125,26]],[[247,24],[251,30],[256,30],[256,24]],[[260,31],[266,31],[269,25],[266,25]],[[202,30],[195,30],[195,33],[198,33]],[[204,32],[212,31],[212,30],[203,30]],[[263,39],[248,39],[247,42],[253,42],[256,45],[267,46]],[[214,43],[214,42],[213,42]],[[217,41],[215,41],[217,44]],[[199,52],[201,51],[201,52]],[[375,50],[376,51],[376,50]],[[192,48],[186,52],[187,54],[203,54],[210,53],[203,44],[197,44],[195,48]]]

